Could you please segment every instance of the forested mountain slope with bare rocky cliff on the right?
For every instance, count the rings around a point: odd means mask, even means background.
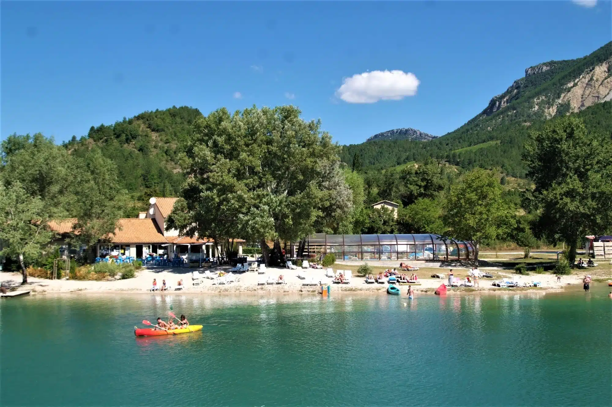
[[[345,145],[341,160],[360,155],[365,169],[385,169],[427,158],[465,169],[526,171],[521,161],[529,131],[565,114],[583,117],[589,131],[612,133],[612,42],[588,56],[526,68],[501,95],[457,130],[427,142],[380,141]]]

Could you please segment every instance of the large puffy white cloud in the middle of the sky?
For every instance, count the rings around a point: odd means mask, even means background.
[[[413,73],[400,70],[371,71],[345,78],[336,96],[348,103],[375,103],[401,100],[417,93],[420,81]]]

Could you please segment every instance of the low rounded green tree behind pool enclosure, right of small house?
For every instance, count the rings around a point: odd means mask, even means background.
[[[401,229],[405,233],[436,233],[446,232],[442,222],[442,205],[428,198],[417,199],[414,204],[400,210]]]

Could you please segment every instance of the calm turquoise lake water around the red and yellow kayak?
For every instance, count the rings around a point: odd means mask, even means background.
[[[607,406],[607,293],[4,299],[0,405]]]

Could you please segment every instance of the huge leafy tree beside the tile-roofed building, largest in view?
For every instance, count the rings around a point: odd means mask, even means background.
[[[293,106],[253,106],[197,119],[181,161],[184,201],[168,227],[215,240],[259,241],[266,262],[267,240],[278,252],[280,240],[300,240],[317,225],[334,230],[333,219],[339,222],[352,206],[338,170],[339,147],[320,122],[299,115]]]

